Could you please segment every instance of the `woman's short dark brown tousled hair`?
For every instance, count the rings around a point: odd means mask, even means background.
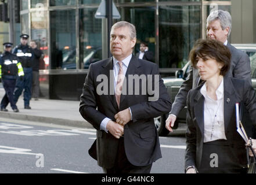
[[[199,39],[189,53],[189,59],[194,68],[197,65],[197,56],[207,60],[209,58],[222,64],[220,75],[225,76],[230,68],[231,53],[222,42],[214,39]]]

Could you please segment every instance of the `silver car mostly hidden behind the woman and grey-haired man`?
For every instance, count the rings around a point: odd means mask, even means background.
[[[237,49],[242,50],[248,54],[251,61],[251,81],[253,83],[253,87],[256,91],[256,44],[232,44]],[[182,68],[180,71],[176,71],[175,76],[173,77],[164,77],[164,85],[167,87],[168,93],[170,94],[172,102],[174,102],[176,94],[178,94],[179,88],[181,84],[188,77],[188,72],[190,69],[189,62]],[[178,128],[179,124],[186,124],[186,111],[187,107],[183,108],[181,112],[178,114],[177,119],[175,121],[173,129]],[[167,119],[168,114],[163,116],[156,117],[154,119],[158,135],[165,136],[169,134],[169,131],[165,128],[165,120]]]

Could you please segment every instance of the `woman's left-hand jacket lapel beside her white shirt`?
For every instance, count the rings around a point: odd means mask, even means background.
[[[196,117],[197,124],[200,128],[201,135],[204,135],[204,96],[201,94],[200,89],[194,97],[194,116]]]

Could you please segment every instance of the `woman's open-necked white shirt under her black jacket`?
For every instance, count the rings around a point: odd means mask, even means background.
[[[200,90],[204,96],[204,143],[226,139],[224,125],[224,85],[223,79],[217,88],[217,100],[207,95],[206,85]]]

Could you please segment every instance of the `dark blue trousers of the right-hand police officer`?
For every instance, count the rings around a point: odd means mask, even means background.
[[[23,69],[24,69],[24,77],[22,80],[20,78],[17,79],[16,88],[14,92],[14,99],[16,103],[24,89],[24,106],[29,106],[30,99],[31,99],[33,73],[32,73],[32,68],[23,68]]]

